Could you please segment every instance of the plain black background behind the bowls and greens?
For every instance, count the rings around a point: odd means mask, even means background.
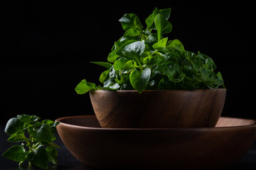
[[[90,61],[107,61],[124,34],[124,13],[137,13],[144,24],[156,6],[172,8],[169,40],[217,64],[228,89],[223,115],[256,119],[252,1],[1,1],[1,123],[17,114],[93,114],[89,94],[76,94],[75,86],[82,79],[100,84],[104,68]]]

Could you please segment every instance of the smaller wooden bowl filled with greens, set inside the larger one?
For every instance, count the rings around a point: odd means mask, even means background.
[[[90,91],[102,128],[214,127],[225,103],[226,89]]]

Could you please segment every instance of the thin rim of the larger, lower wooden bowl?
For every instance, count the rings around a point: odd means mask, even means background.
[[[65,116],[61,118],[57,118],[55,121],[60,122],[59,125],[65,125],[72,128],[78,128],[83,130],[110,130],[110,131],[168,131],[168,130],[181,130],[181,131],[208,131],[208,130],[235,130],[238,128],[256,128],[256,120],[245,119],[245,118],[232,118],[232,117],[220,117],[220,118],[230,118],[230,119],[242,119],[242,120],[252,120],[254,123],[250,125],[235,125],[235,126],[222,126],[222,127],[213,127],[213,128],[95,128],[81,125],[72,125],[69,123],[62,123],[61,120],[68,118],[96,118],[95,115],[73,115],[73,116]]]

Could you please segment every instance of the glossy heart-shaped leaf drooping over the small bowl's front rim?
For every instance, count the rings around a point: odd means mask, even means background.
[[[151,74],[151,69],[149,68],[146,68],[141,71],[134,69],[134,71],[131,72],[129,76],[130,82],[134,87],[134,89],[137,90],[140,94],[149,83],[150,74]]]

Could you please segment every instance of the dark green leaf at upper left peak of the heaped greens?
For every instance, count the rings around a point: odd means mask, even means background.
[[[139,17],[134,13],[126,13],[119,19],[124,30],[134,28],[136,30],[142,30],[142,23],[139,21]]]

